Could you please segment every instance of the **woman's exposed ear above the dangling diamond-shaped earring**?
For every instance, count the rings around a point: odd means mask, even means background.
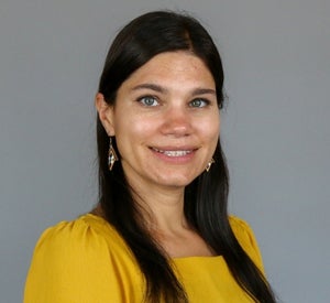
[[[101,93],[98,93],[95,97],[95,107],[108,136],[114,136],[113,106],[107,104],[107,101],[105,100],[105,96]]]

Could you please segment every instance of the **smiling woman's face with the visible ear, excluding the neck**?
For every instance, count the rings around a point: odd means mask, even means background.
[[[113,107],[100,94],[97,107],[133,187],[184,187],[212,159],[220,129],[216,85],[188,52],[154,56],[120,86]]]

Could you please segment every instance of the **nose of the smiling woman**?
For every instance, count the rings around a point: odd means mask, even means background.
[[[185,137],[191,133],[191,117],[183,106],[170,107],[164,115],[162,132],[166,136]]]

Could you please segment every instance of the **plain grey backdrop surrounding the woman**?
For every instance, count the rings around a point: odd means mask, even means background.
[[[110,41],[154,9],[196,14],[223,57],[231,212],[283,302],[329,302],[330,1],[1,0],[0,301],[42,230],[97,199],[94,95]]]

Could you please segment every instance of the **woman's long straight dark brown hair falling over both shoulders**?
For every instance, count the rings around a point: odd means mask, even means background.
[[[188,51],[211,72],[219,109],[223,106],[223,69],[218,50],[194,18],[155,11],[143,14],[124,26],[114,39],[100,78],[99,93],[114,105],[121,84],[152,57],[164,52]],[[146,281],[145,300],[150,302],[188,302],[170,260],[144,228],[141,209],[132,196],[120,161],[108,169],[109,138],[100,119],[97,121],[99,155],[99,198],[106,219],[120,232],[132,250]],[[116,138],[112,144],[117,150]],[[217,255],[223,256],[240,286],[256,302],[275,302],[261,271],[239,245],[228,219],[229,176],[220,140],[215,164],[185,190],[185,215],[189,225]]]

